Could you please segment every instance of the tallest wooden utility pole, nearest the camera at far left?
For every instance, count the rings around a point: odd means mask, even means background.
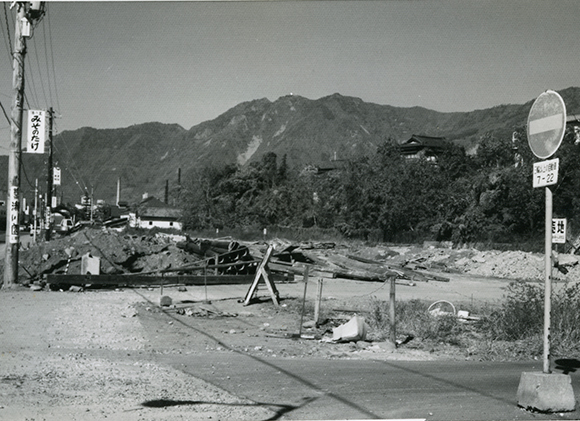
[[[12,288],[18,281],[18,247],[20,243],[20,156],[22,154],[22,103],[24,98],[24,56],[26,41],[22,25],[26,19],[25,3],[16,3],[18,12],[14,25],[12,61],[12,99],[10,149],[8,156],[8,212],[6,212],[6,255],[4,288]]]

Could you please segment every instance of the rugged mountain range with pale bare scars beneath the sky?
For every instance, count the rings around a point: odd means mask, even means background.
[[[580,88],[559,91],[569,114],[580,112]],[[311,100],[287,95],[243,102],[217,118],[189,130],[177,124],[145,123],[118,129],[83,127],[54,138],[53,162],[61,168],[57,195],[78,203],[85,188],[95,199],[114,203],[117,180],[121,200],[134,203],[144,193],[163,199],[166,183],[173,188],[178,173],[208,166],[259,161],[266,152],[286,156],[290,167],[323,166],[373,154],[384,141],[401,143],[413,134],[442,136],[474,153],[486,133],[511,141],[526,125],[534,99],[525,104],[498,105],[470,112],[437,112],[364,102],[333,94]],[[47,156],[22,154],[21,192],[33,197],[35,179],[46,190]],[[0,156],[0,168],[7,168]],[[0,197],[7,189],[7,171],[0,173]]]

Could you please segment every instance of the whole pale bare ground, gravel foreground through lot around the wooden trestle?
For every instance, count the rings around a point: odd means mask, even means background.
[[[449,298],[449,293],[441,294],[441,286],[431,284],[432,291],[425,289],[428,284],[398,290],[401,295],[437,293]],[[470,289],[459,285],[447,288],[451,295]],[[502,285],[505,281],[495,283],[497,297]],[[308,285],[309,302],[315,286]],[[272,358],[458,357],[412,347],[394,349],[372,339],[338,344],[297,338],[313,332],[300,331],[303,282],[278,285],[279,307],[265,287],[259,289],[256,303],[243,306],[239,300],[247,289],[248,285],[164,288],[163,295],[172,299],[169,307],[159,306],[159,288],[1,290],[0,419],[258,420],[273,415],[268,408],[159,363],[160,355],[195,358],[235,350]],[[321,313],[342,308],[338,314],[345,320],[353,315],[347,305],[388,294],[387,288],[356,281],[327,283],[323,291]]]

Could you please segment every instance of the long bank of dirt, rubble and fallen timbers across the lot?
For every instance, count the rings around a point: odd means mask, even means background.
[[[19,253],[21,279],[45,275],[80,274],[85,255],[100,259],[100,274],[160,273],[253,275],[268,245],[274,247],[269,270],[300,279],[308,266],[310,276],[383,282],[413,286],[416,282],[448,282],[446,273],[522,280],[544,278],[542,254],[521,251],[423,246],[366,246],[330,242],[292,243],[282,239],[241,243],[232,239],[190,239],[169,234],[131,235],[106,227],[83,227],[69,236],[30,243]],[[575,255],[555,256],[553,276],[580,279]],[[0,262],[0,265],[3,262]],[[196,272],[197,271],[197,272]]]

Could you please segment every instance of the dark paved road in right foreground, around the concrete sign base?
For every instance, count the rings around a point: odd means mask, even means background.
[[[278,411],[278,419],[579,419],[518,408],[521,373],[541,362],[262,359],[230,353],[164,362]],[[574,390],[580,378],[572,374]]]

